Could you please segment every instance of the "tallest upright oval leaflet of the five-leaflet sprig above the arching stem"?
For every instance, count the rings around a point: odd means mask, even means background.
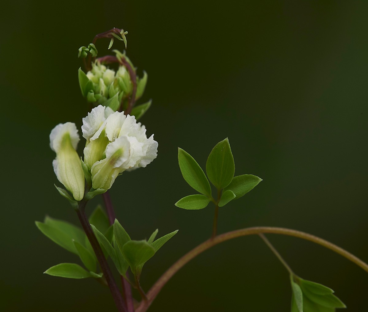
[[[227,138],[217,143],[210,152],[206,162],[206,172],[217,189],[227,187],[233,180],[235,164]]]

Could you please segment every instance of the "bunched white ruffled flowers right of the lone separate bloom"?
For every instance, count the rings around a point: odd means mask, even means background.
[[[124,112],[106,113],[99,105],[83,118],[82,132],[87,139],[85,163],[91,168],[93,188],[109,189],[118,174],[127,169],[146,167],[157,157],[158,143],[134,116]],[[103,151],[102,151],[103,149]]]

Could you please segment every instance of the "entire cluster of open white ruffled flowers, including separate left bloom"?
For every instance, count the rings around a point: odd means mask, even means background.
[[[107,191],[118,174],[146,167],[157,157],[158,143],[153,134],[147,138],[145,126],[134,116],[114,112],[109,107],[92,109],[83,118],[84,166],[91,174],[92,188]],[[84,196],[84,173],[76,152],[79,135],[74,123],[57,125],[50,134],[50,147],[56,152],[53,161],[58,180],[75,200]]]

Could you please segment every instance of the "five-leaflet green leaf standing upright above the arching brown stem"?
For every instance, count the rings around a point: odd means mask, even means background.
[[[206,162],[208,179],[217,189],[217,200],[213,199],[209,181],[195,159],[179,148],[178,161],[184,180],[202,194],[185,196],[175,203],[177,207],[183,209],[202,209],[210,201],[223,207],[233,199],[244,196],[262,181],[261,178],[252,174],[234,177],[234,157],[227,138],[216,144]]]

